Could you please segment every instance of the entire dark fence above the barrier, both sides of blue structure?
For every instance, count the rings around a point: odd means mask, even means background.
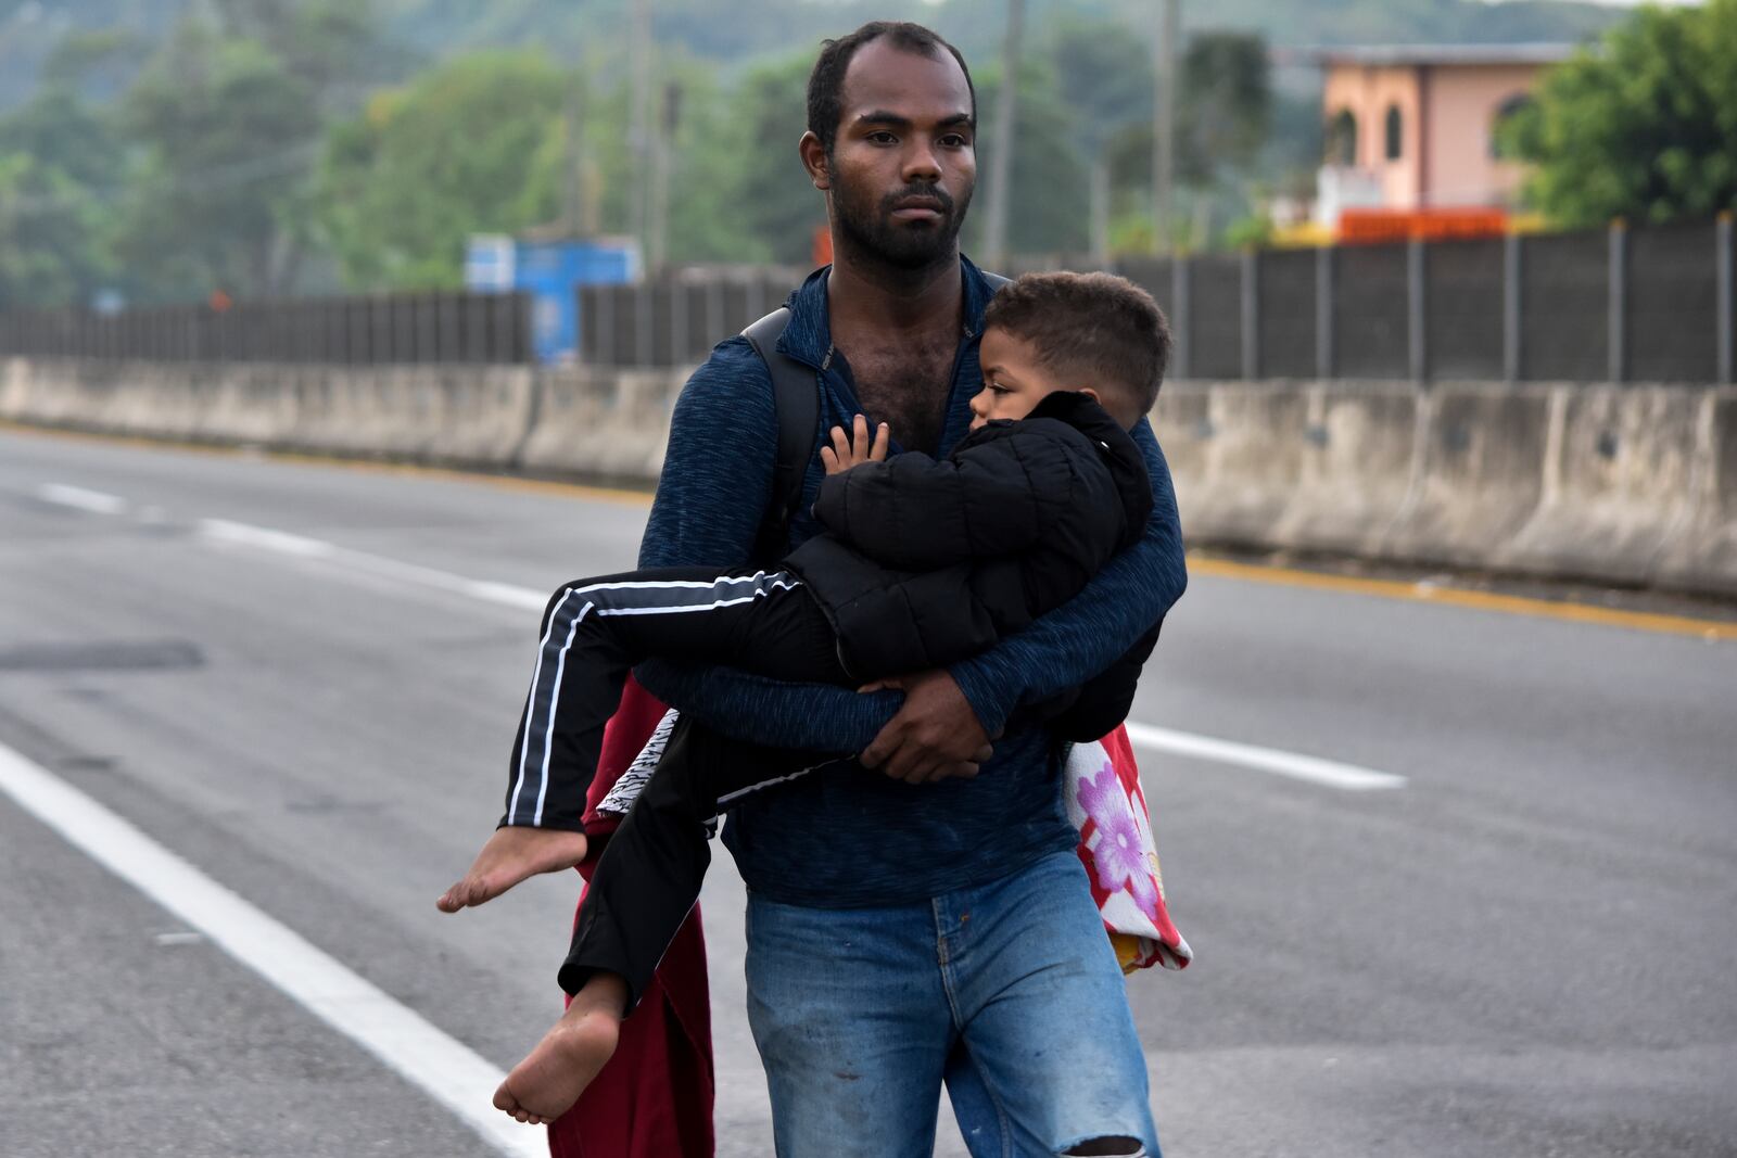
[[[1060,260],[1046,262],[1058,266]],[[1082,267],[1084,262],[1075,267]],[[1034,262],[1016,262],[1021,273]],[[1126,259],[1176,335],[1174,378],[1730,382],[1732,220]],[[686,269],[584,286],[578,358],[688,366],[804,273]],[[526,295],[400,293],[207,307],[0,313],[0,354],[523,363]]]

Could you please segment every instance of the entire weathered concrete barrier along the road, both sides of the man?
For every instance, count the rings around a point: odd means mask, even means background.
[[[686,372],[0,363],[0,418],[650,483]],[[1197,545],[1737,595],[1737,389],[1172,382]]]

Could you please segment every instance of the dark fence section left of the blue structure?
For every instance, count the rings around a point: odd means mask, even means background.
[[[525,293],[391,293],[283,302],[0,313],[0,354],[146,361],[523,363]]]

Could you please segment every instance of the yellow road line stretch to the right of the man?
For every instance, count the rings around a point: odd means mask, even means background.
[[[1619,608],[1598,608],[1588,602],[1560,602],[1555,599],[1532,599],[1529,595],[1497,595],[1494,592],[1468,590],[1464,587],[1438,587],[1435,583],[1407,583],[1402,580],[1374,580],[1350,575],[1327,575],[1322,571],[1298,571],[1296,568],[1266,566],[1259,563],[1233,563],[1230,559],[1212,559],[1204,556],[1190,556],[1188,573],[1211,575],[1214,578],[1247,580],[1251,583],[1311,587],[1315,590],[1336,590],[1350,595],[1409,599],[1412,602],[1435,602],[1450,608],[1470,608],[1473,611],[1499,611],[1503,615],[1567,620],[1570,623],[1628,627],[1633,630],[1664,632],[1669,635],[1737,639],[1737,623],[1721,620],[1697,620],[1687,615],[1659,615],[1655,611],[1622,611]]]

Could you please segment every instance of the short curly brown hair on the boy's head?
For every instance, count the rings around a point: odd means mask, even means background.
[[[1030,273],[988,304],[983,328],[1030,342],[1070,387],[1093,387],[1105,410],[1134,425],[1152,410],[1171,359],[1164,311],[1127,278],[1108,273]]]

